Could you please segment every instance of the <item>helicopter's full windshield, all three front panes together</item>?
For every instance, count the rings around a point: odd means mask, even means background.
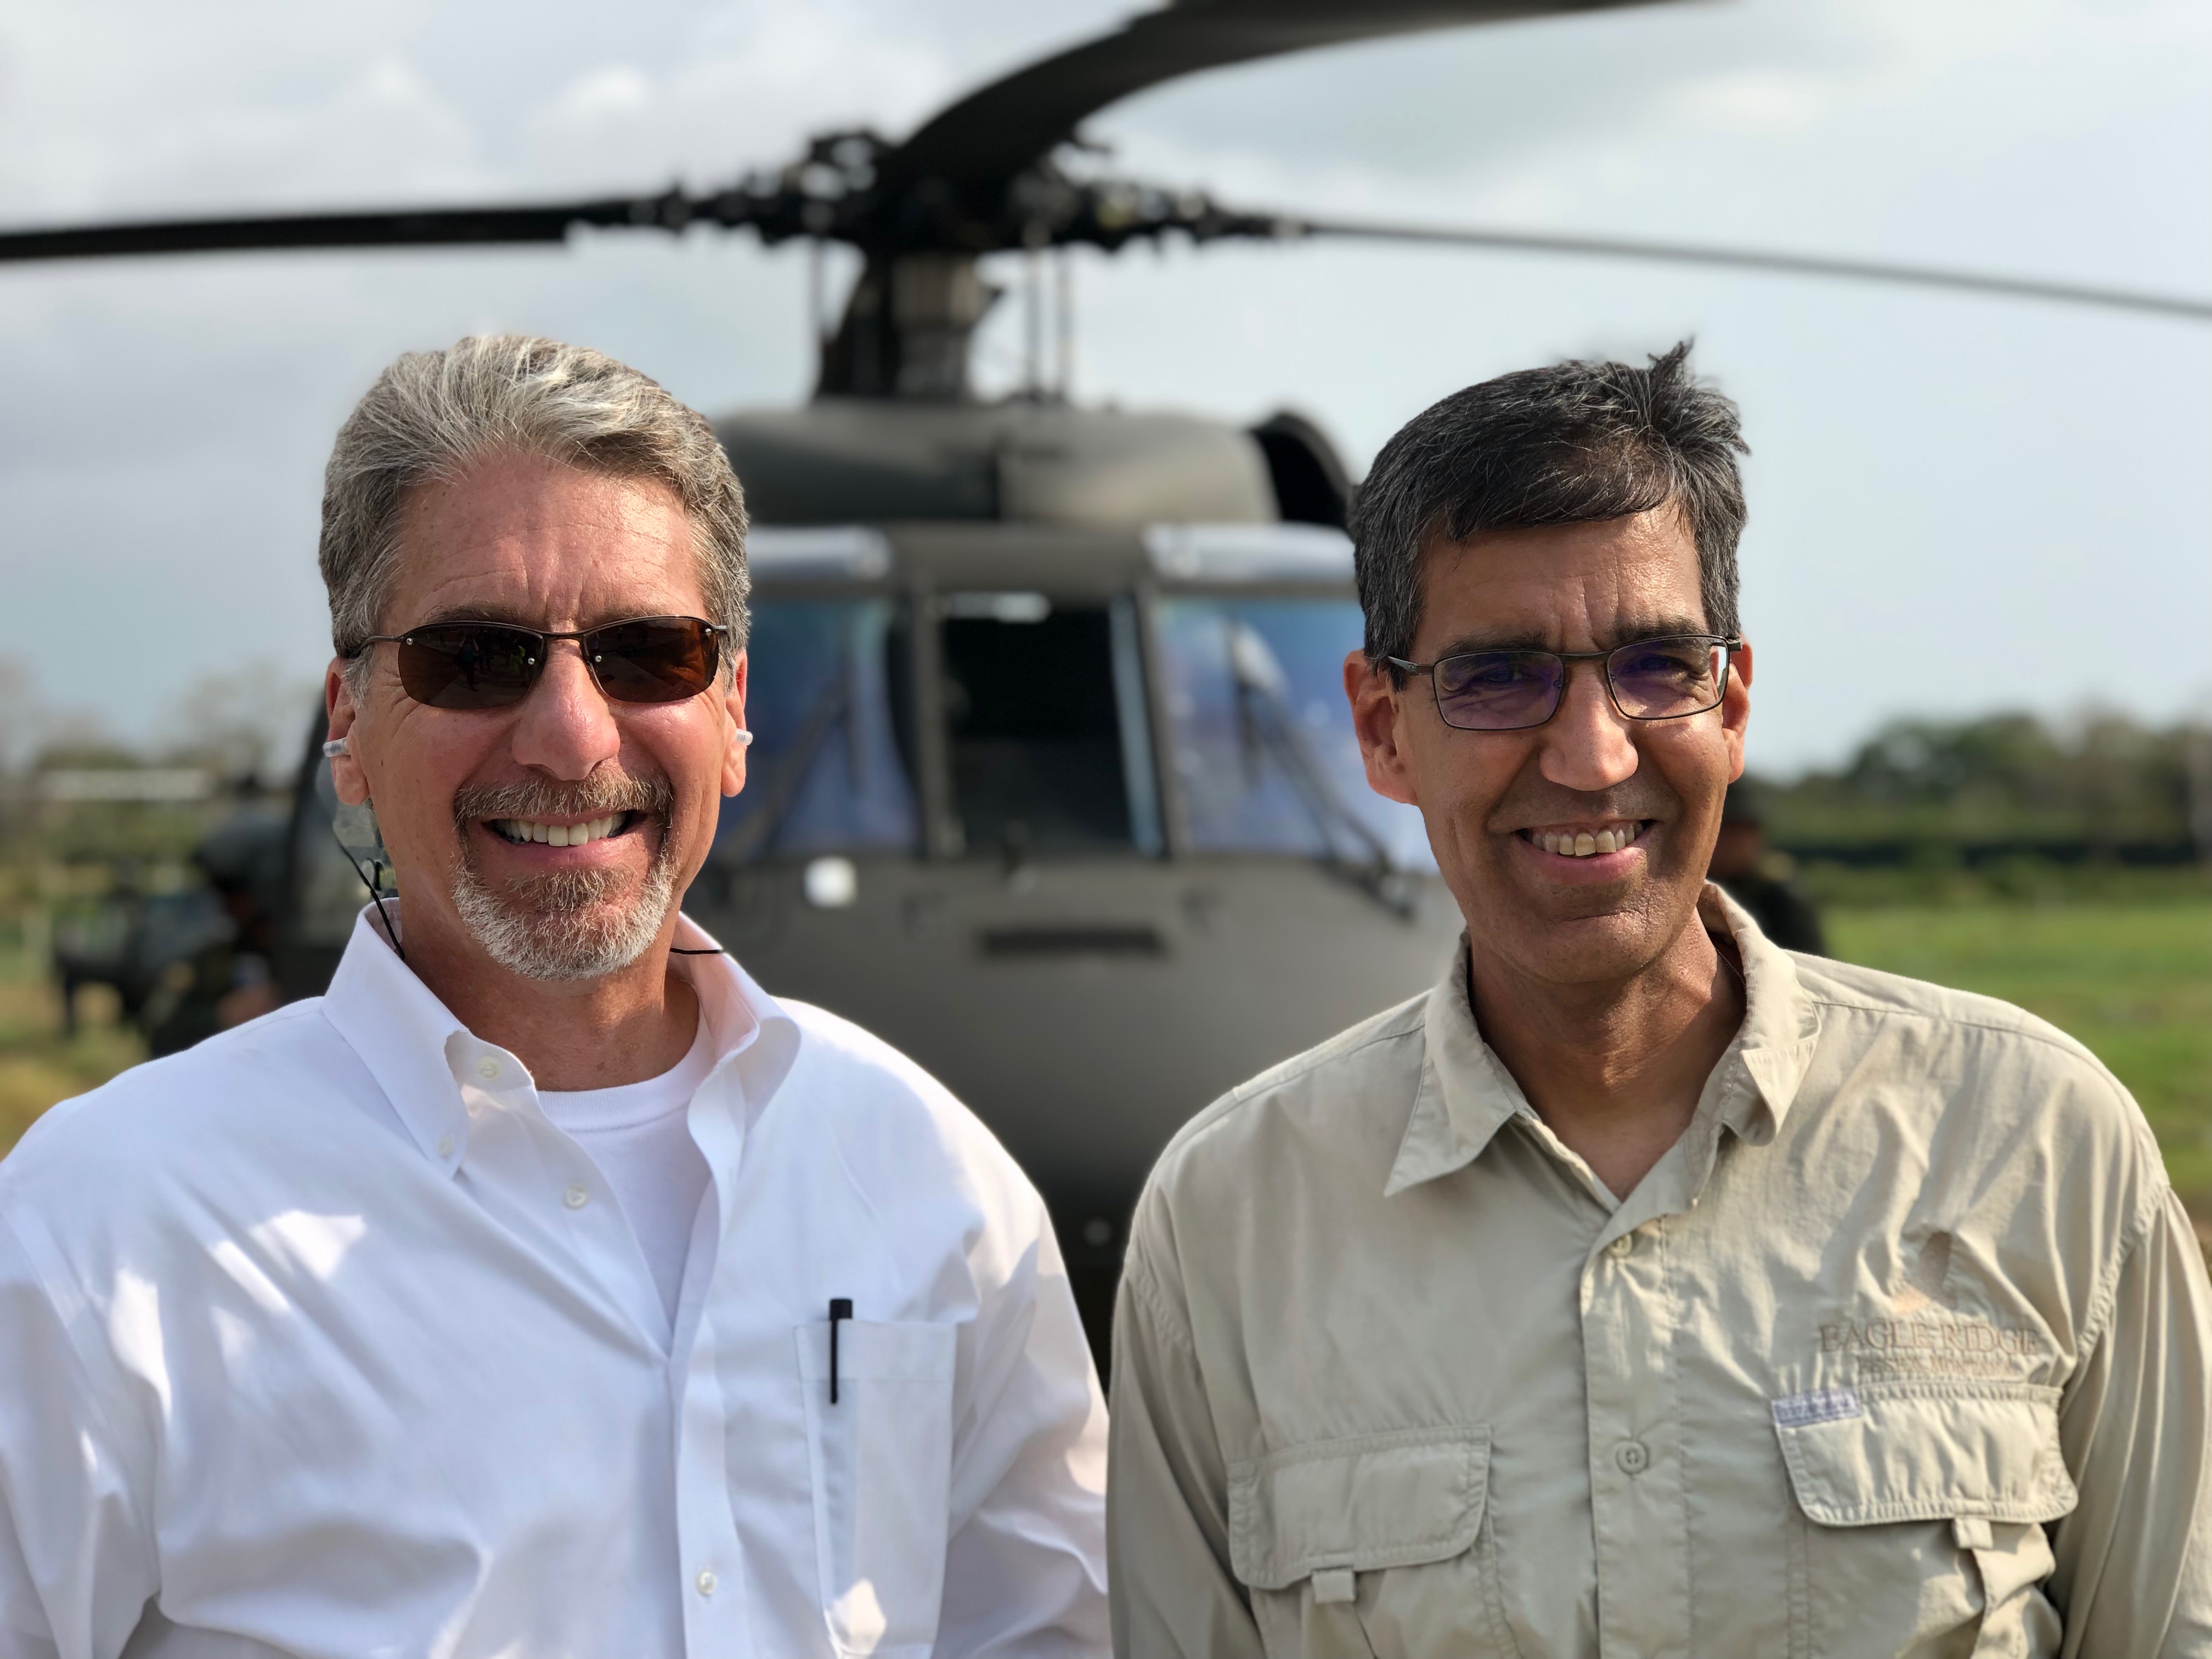
[[[940,637],[951,810],[969,854],[1161,849],[1135,599],[951,593]],[[1360,611],[1336,597],[1161,597],[1161,701],[1188,845],[1433,869],[1413,807],[1367,787],[1340,664]],[[754,606],[745,792],[726,858],[911,852],[909,606]]]

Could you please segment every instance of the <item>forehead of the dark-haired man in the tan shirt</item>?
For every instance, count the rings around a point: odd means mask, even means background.
[[[1484,646],[1608,650],[1705,628],[1697,542],[1672,507],[1422,549],[1425,659]]]

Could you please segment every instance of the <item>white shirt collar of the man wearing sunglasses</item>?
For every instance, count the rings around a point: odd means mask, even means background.
[[[385,909],[398,914],[392,900]],[[677,918],[675,942],[688,951],[719,951],[688,916]],[[699,995],[699,1018],[714,1048],[710,1079],[728,1071],[739,1084],[741,1135],[790,1075],[799,1024],[726,953],[679,956],[677,971]],[[467,1155],[476,1110],[535,1093],[522,1060],[469,1031],[398,958],[369,909],[354,920],[323,995],[323,1015],[361,1055],[422,1157],[447,1170],[460,1168]]]

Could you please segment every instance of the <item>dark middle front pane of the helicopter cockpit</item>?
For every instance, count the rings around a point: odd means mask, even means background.
[[[951,805],[971,854],[1157,854],[1133,599],[949,593],[942,617]]]

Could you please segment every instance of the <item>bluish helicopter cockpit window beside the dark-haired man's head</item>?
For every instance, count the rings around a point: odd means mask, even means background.
[[[1343,690],[1358,604],[1170,597],[1155,615],[1192,847],[1436,867],[1420,812],[1360,765]]]

